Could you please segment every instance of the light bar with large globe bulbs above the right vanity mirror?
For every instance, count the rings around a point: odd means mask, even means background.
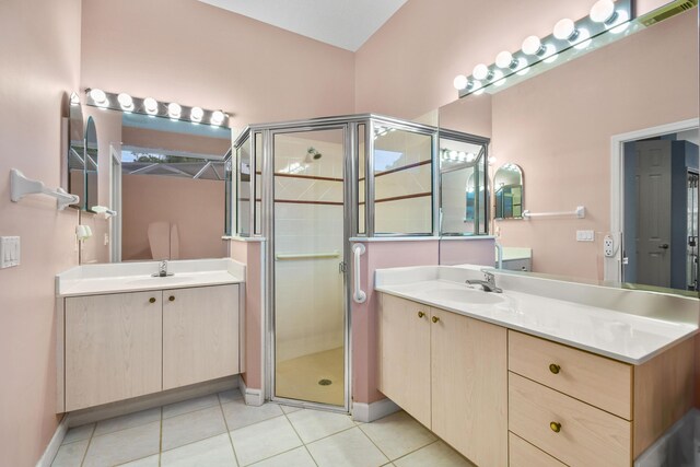
[[[478,63],[469,77],[459,74],[453,84],[459,97],[481,94],[486,87],[503,85],[510,77],[527,74],[537,63],[556,61],[559,54],[565,50],[585,50],[595,37],[604,33],[621,33],[631,20],[632,0],[598,0],[587,16],[576,22],[560,20],[552,34],[541,39],[538,36],[526,37],[520,50],[501,51],[493,63]]]

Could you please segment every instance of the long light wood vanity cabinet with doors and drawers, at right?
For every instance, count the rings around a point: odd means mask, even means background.
[[[693,340],[630,364],[388,293],[378,388],[480,467],[630,466],[693,402]]]

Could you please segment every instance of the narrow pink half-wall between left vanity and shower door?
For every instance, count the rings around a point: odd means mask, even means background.
[[[245,361],[243,380],[247,387],[262,387],[262,283],[261,242],[231,241],[231,258],[246,265],[245,280]]]

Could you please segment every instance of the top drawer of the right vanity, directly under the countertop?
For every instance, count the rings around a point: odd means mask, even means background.
[[[509,370],[632,419],[632,365],[627,363],[509,331]]]

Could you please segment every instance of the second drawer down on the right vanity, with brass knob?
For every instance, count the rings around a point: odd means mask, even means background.
[[[512,372],[509,416],[510,431],[570,466],[631,463],[630,422]]]

